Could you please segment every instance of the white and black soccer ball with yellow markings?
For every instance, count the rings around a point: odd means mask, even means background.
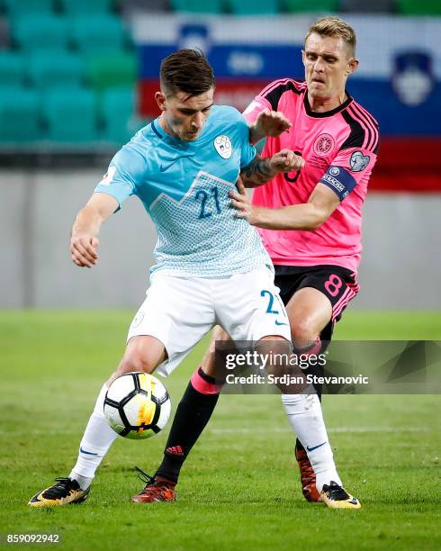
[[[171,401],[166,387],[153,375],[142,372],[121,375],[104,398],[104,417],[120,436],[151,438],[164,429]]]

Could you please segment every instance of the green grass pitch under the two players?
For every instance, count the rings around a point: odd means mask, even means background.
[[[0,531],[59,532],[63,549],[439,549],[440,396],[325,396],[339,472],[363,504],[303,500],[278,396],[220,398],[184,466],[178,501],[135,505],[167,429],[119,438],[83,505],[32,510],[66,476],[132,312],[0,312]],[[339,339],[441,339],[439,312],[347,312]],[[175,405],[204,343],[166,380]],[[169,425],[168,425],[169,427]],[[168,428],[167,427],[167,428]]]

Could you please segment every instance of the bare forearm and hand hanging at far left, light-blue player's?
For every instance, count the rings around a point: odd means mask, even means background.
[[[96,249],[97,235],[101,224],[118,208],[112,195],[93,194],[85,206],[77,213],[70,238],[70,256],[76,266],[92,267],[98,260]]]

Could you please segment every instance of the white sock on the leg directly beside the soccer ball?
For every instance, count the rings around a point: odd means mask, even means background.
[[[107,385],[103,384],[94,411],[85,427],[85,433],[80,443],[76,465],[69,474],[76,480],[82,490],[85,490],[94,479],[94,473],[113,441],[118,437],[104,419],[103,407]]]

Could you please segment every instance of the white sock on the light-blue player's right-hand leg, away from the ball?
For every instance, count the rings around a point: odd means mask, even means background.
[[[316,475],[317,490],[332,480],[341,485],[317,394],[282,394],[288,420]]]

